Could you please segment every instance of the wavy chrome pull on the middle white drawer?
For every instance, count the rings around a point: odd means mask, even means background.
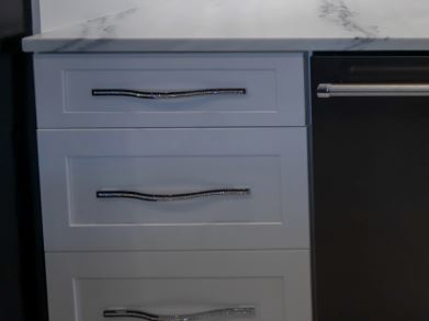
[[[180,194],[146,194],[132,191],[97,191],[98,198],[134,198],[147,202],[183,200],[211,196],[249,195],[250,188],[218,188]]]

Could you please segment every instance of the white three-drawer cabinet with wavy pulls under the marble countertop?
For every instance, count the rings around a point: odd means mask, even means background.
[[[304,65],[35,56],[50,321],[312,320]]]

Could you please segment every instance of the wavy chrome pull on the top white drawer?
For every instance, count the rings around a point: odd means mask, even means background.
[[[246,94],[245,88],[215,88],[215,89],[200,89],[200,90],[185,90],[185,91],[161,91],[161,92],[148,92],[128,89],[93,89],[92,95],[94,96],[132,96],[146,100],[160,100],[160,99],[180,99],[192,98],[203,95],[217,95],[217,94]]]

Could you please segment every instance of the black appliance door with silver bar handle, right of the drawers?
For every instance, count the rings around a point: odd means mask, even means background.
[[[312,64],[318,320],[429,320],[429,57]]]

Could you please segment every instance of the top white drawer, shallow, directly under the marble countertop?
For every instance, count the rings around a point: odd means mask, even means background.
[[[35,78],[39,128],[305,125],[301,54],[37,55]],[[191,93],[93,95],[112,89]]]

